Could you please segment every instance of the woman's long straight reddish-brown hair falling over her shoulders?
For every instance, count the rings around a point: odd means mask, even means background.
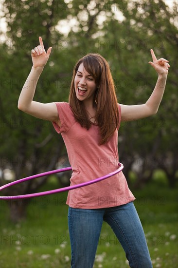
[[[119,111],[115,93],[114,81],[109,65],[104,57],[98,53],[89,53],[78,60],[73,68],[69,104],[76,121],[87,130],[91,127],[89,115],[83,101],[78,100],[75,93],[74,78],[79,65],[83,63],[86,71],[95,79],[97,89],[93,99],[96,105],[95,121],[97,122],[101,139],[99,145],[107,143],[119,124]]]

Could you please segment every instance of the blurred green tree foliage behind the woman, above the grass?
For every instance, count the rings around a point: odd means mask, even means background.
[[[158,114],[123,123],[118,146],[126,175],[134,162],[140,184],[160,167],[174,186],[178,141],[176,4],[170,10],[162,0],[4,0],[2,13],[8,24],[0,48],[2,169],[13,169],[19,179],[55,168],[57,158],[66,153],[51,122],[32,118],[17,108],[32,67],[31,49],[41,36],[45,48],[52,46],[53,50],[37,84],[34,99],[40,102],[68,101],[75,62],[97,52],[110,64],[119,102],[144,103],[157,80],[148,65],[150,49],[157,57],[169,59],[171,68]],[[62,33],[64,24],[71,25],[68,34]],[[138,164],[141,158],[144,167]],[[28,190],[20,187],[29,192],[35,188],[32,182]]]

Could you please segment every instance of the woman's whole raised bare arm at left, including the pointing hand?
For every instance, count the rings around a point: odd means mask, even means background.
[[[50,47],[47,52],[45,51],[41,37],[39,37],[39,43],[40,45],[35,49],[32,49],[33,67],[20,93],[18,109],[37,118],[55,121],[60,124],[55,103],[40,103],[33,101],[37,81],[52,50],[52,47]]]

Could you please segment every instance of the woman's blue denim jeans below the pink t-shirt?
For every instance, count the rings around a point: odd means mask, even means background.
[[[69,207],[71,268],[92,268],[103,220],[114,231],[131,268],[152,268],[146,239],[133,202],[105,209]]]

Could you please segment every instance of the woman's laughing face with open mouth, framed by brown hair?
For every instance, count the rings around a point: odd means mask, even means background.
[[[89,103],[93,103],[93,97],[96,90],[96,83],[94,77],[92,77],[81,63],[78,67],[75,79],[74,79],[75,93],[79,100]]]

